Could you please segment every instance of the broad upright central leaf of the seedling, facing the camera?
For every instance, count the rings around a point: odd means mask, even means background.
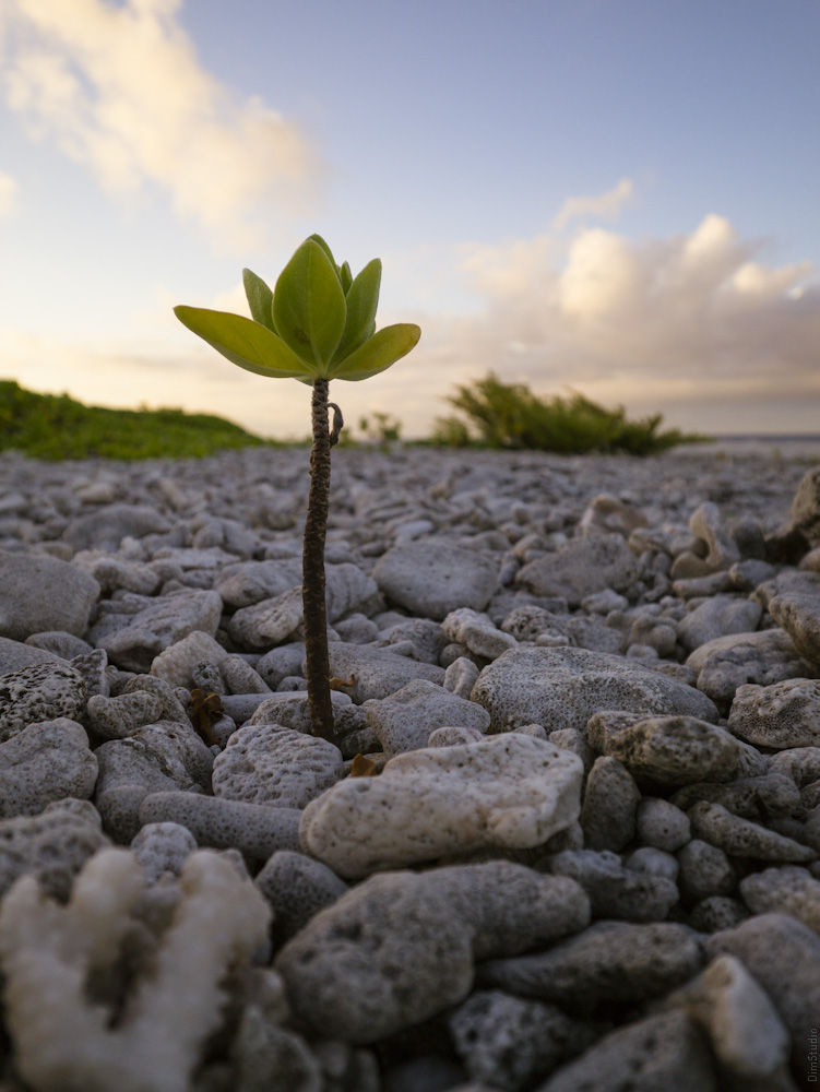
[[[345,294],[326,251],[306,239],[280,274],[273,292],[273,322],[282,340],[328,378],[328,367],[347,317]]]

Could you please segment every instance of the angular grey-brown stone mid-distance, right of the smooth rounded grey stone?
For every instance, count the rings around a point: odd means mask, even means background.
[[[561,595],[571,607],[607,587],[626,591],[639,575],[639,563],[622,536],[573,538],[555,554],[530,561],[516,581],[534,595]]]

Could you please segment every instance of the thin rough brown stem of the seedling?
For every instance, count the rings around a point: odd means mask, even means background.
[[[310,449],[310,494],[301,559],[301,603],[311,732],[314,736],[321,736],[333,743],[335,733],[330,697],[328,612],[324,603],[324,539],[328,532],[330,499],[330,449],[333,442],[328,430],[328,387],[326,379],[313,381],[311,399],[313,443]]]

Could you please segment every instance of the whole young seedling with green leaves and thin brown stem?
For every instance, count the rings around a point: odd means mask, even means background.
[[[376,329],[381,261],[375,258],[354,277],[336,265],[328,244],[311,235],[280,274],[273,292],[242,272],[252,319],[201,307],[174,312],[231,364],[271,379],[298,379],[313,388],[310,491],[302,548],[302,614],[308,701],[313,735],[334,739],[330,697],[328,619],[324,601],[324,541],[330,498],[330,451],[344,425],[328,401],[331,379],[358,381],[384,371],[415,346],[417,325]],[[328,411],[333,410],[329,428]]]

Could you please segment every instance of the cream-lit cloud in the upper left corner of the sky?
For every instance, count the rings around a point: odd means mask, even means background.
[[[158,188],[229,249],[305,213],[323,167],[298,126],[200,64],[180,0],[4,0],[3,85],[36,139],[112,194]],[[3,26],[3,20],[5,21]]]

